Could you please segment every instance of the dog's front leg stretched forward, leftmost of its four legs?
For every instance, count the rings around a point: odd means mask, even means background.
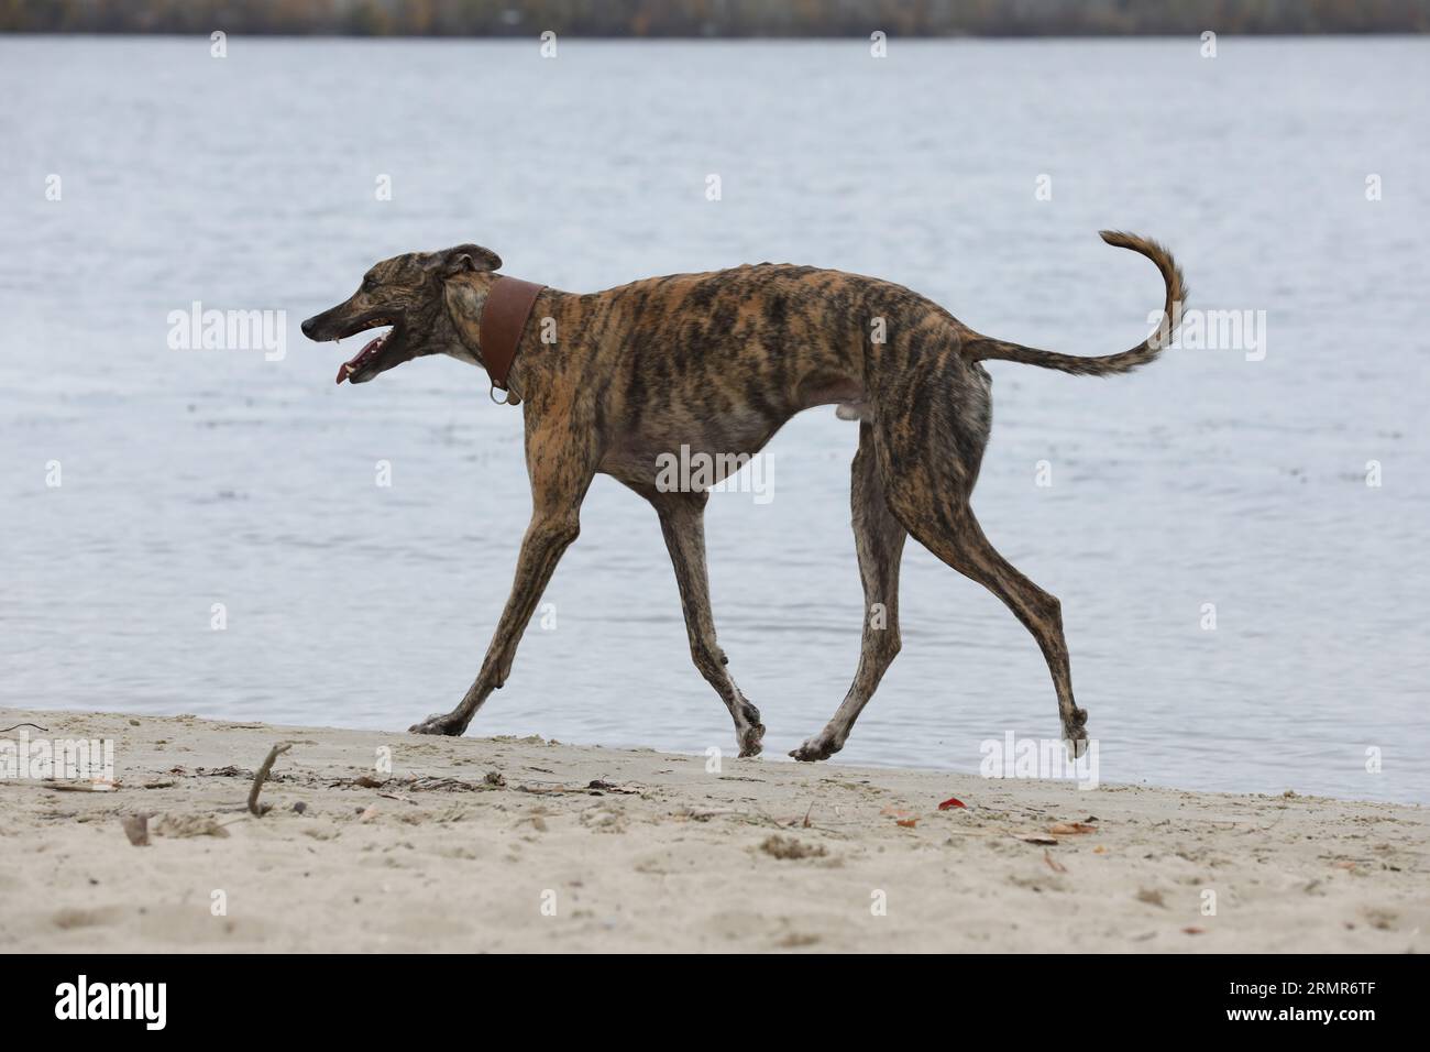
[[[462,704],[450,713],[438,713],[413,724],[409,727],[413,734],[460,734],[472,721],[476,710],[486,701],[488,694],[506,683],[506,677],[512,671],[512,660],[516,657],[516,644],[522,640],[526,623],[536,611],[536,604],[541,601],[562,552],[571,547],[579,532],[581,521],[575,507],[568,511],[538,512],[532,517],[526,535],[522,538],[522,554],[516,560],[516,581],[512,584],[506,608],[502,610],[496,634],[492,635],[486,660],[482,661],[482,671],[472,688],[466,691]]]

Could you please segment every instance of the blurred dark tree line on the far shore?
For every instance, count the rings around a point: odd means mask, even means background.
[[[849,37],[1423,33],[1430,0],[0,0],[0,31]]]

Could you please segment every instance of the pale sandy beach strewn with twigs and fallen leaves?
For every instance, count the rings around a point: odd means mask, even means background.
[[[0,781],[4,952],[1430,949],[1423,807],[24,720],[113,740],[117,784]]]

